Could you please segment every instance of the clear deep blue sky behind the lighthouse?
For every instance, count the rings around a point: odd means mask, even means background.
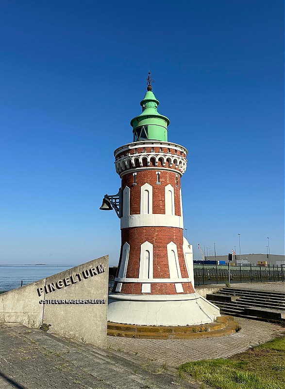
[[[0,52],[0,264],[117,264],[99,207],[149,70],[194,258],[284,254],[283,1],[3,0]]]

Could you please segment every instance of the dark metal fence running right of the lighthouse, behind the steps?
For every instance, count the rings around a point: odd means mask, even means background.
[[[229,282],[228,265],[194,265],[195,285],[218,284]],[[262,283],[285,282],[285,265],[235,265],[231,266],[230,282]]]

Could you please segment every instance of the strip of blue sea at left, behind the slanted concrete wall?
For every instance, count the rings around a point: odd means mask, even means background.
[[[34,282],[76,265],[0,265],[0,282]]]

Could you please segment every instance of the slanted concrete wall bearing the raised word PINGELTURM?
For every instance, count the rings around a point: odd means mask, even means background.
[[[109,257],[36,281],[0,295],[0,321],[102,345],[107,335]]]

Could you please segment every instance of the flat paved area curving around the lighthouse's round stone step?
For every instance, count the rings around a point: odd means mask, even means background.
[[[241,330],[228,336],[207,339],[133,339],[108,336],[109,345],[131,354],[178,366],[187,361],[229,357],[251,346],[285,335],[285,327],[264,321],[235,318]]]

